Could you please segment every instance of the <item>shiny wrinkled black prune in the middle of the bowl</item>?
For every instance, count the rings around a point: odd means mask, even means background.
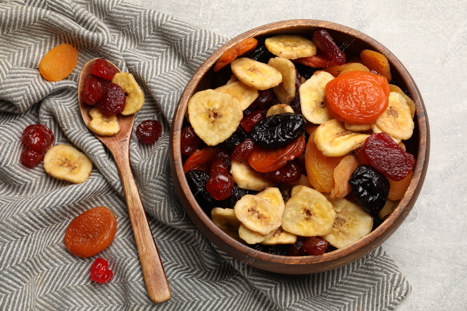
[[[290,144],[303,135],[305,121],[296,113],[281,113],[263,118],[251,128],[250,138],[261,147],[275,148]]]

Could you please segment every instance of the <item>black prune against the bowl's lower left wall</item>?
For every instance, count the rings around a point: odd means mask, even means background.
[[[185,176],[199,206],[211,217],[211,209],[216,207],[216,200],[206,190],[206,183],[211,176],[199,170],[190,170]]]

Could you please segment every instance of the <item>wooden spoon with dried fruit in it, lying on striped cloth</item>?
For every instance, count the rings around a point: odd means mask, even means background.
[[[79,94],[83,89],[85,78],[90,74],[91,66],[96,60],[97,58],[94,58],[84,64],[78,81],[79,110],[86,125],[91,121],[88,111],[92,106],[81,100]],[[107,61],[107,65],[115,69],[116,72],[120,72],[113,63]],[[156,242],[154,241],[151,228],[149,228],[141,196],[130,168],[129,146],[131,131],[133,131],[134,115],[123,116],[118,114],[117,119],[120,124],[120,131],[116,135],[102,136],[96,133],[94,135],[110,150],[117,164],[123,191],[125,192],[125,199],[127,200],[128,215],[133,227],[134,239],[140,256],[146,289],[148,290],[149,298],[158,304],[170,299],[170,288],[165,276],[164,267],[162,266],[161,257],[157,251]]]

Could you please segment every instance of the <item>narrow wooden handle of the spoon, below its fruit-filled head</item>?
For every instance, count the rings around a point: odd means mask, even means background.
[[[127,149],[128,150],[128,149]],[[148,218],[144,211],[138,187],[134,181],[127,152],[118,152],[114,155],[120,173],[125,199],[127,200],[128,214],[133,227],[134,239],[140,256],[141,269],[149,298],[156,304],[170,299],[170,288],[165,276],[161,257],[157,251],[156,242],[149,228]]]

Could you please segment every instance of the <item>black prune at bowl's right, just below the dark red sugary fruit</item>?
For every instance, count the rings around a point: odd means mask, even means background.
[[[372,215],[386,204],[389,194],[389,180],[369,165],[359,165],[350,175],[349,185],[358,204]]]

